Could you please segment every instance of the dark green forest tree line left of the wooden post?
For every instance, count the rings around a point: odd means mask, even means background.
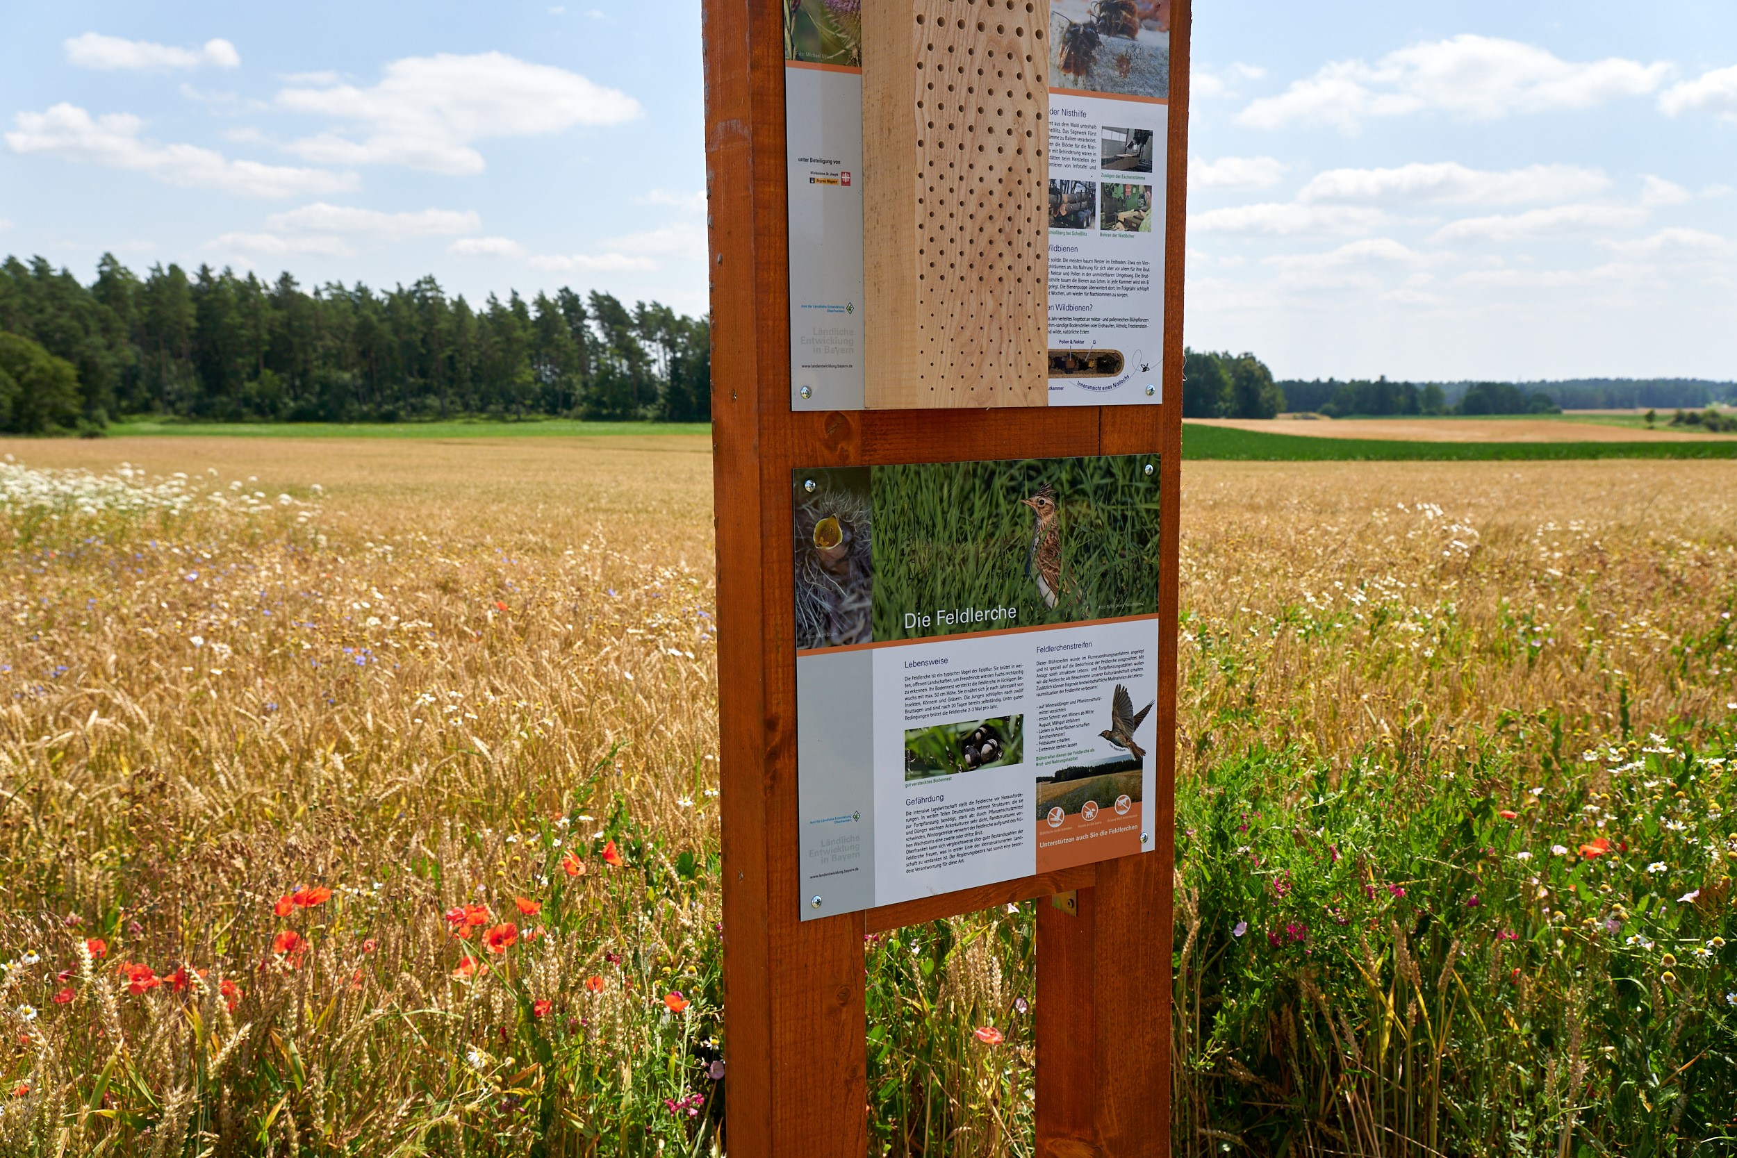
[[[563,288],[472,307],[429,276],[372,290],[201,266],[142,278],[113,255],[83,285],[0,266],[0,431],[111,418],[400,422],[710,418],[710,321]],[[47,358],[49,361],[43,361]],[[69,368],[59,370],[54,363]]]

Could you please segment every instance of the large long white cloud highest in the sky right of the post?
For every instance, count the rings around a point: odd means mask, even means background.
[[[1350,132],[1374,116],[1423,109],[1464,120],[1494,120],[1645,95],[1659,89],[1669,73],[1671,66],[1662,61],[1641,64],[1610,57],[1572,63],[1518,40],[1466,33],[1390,52],[1374,64],[1334,61],[1277,97],[1252,101],[1237,122],[1252,128],[1337,125]]]

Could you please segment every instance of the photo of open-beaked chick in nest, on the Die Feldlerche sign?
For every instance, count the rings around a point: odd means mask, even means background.
[[[868,642],[874,582],[868,467],[797,470],[790,493],[797,649]]]

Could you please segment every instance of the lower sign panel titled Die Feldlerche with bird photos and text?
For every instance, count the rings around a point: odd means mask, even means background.
[[[1159,477],[792,474],[804,918],[1157,847]]]

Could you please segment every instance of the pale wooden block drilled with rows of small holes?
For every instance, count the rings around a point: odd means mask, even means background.
[[[863,0],[870,408],[1049,401],[1049,0]]]

